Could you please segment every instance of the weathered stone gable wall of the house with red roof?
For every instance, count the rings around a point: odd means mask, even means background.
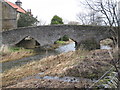
[[[17,11],[6,2],[2,2],[2,30],[17,28]]]

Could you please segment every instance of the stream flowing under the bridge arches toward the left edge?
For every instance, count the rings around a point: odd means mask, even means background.
[[[101,46],[101,49],[110,49],[110,47],[109,46]],[[24,57],[19,60],[4,62],[4,63],[0,64],[0,67],[2,66],[2,70],[0,70],[0,72],[4,72],[11,68],[22,66],[24,64],[27,64],[28,62],[40,60],[40,59],[45,58],[50,55],[58,55],[60,53],[68,52],[68,51],[75,51],[75,43],[74,42],[67,44],[67,45],[60,46],[59,48],[56,48],[54,50],[41,51],[40,49],[37,49],[37,52],[39,52],[37,55]]]

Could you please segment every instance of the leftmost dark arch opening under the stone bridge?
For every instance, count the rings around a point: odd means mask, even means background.
[[[15,46],[31,49],[31,48],[40,47],[40,43],[34,38],[32,38],[31,36],[26,36],[20,42],[18,42]]]

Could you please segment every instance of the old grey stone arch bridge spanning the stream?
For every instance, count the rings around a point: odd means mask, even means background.
[[[45,25],[37,27],[18,28],[3,31],[2,44],[15,45],[30,36],[41,46],[53,44],[56,40],[68,35],[75,41],[76,48],[83,46],[89,49],[100,48],[100,41],[111,38],[108,27],[83,25]]]

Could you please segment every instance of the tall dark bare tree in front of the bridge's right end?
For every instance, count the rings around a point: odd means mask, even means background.
[[[93,11],[101,13],[106,26],[109,27],[115,46],[118,48],[118,31],[120,30],[120,14],[118,13],[117,0],[86,0],[86,5]],[[112,56],[112,55],[111,55]],[[118,81],[120,81],[119,56],[118,60],[112,58],[113,66],[118,72]],[[118,82],[120,88],[120,82]]]

